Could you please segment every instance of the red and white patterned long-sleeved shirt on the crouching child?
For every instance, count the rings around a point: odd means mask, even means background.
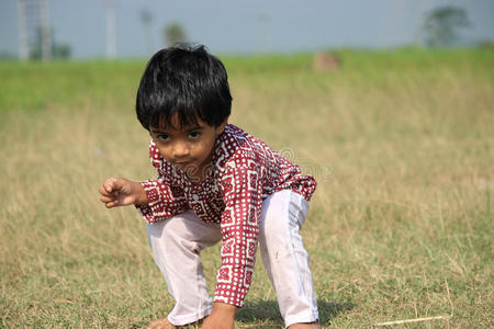
[[[232,124],[217,137],[211,170],[198,184],[166,161],[153,140],[149,157],[158,178],[142,182],[149,204],[138,211],[150,224],[189,209],[206,223],[220,224],[222,265],[214,300],[243,307],[254,274],[262,201],[282,190],[308,201],[315,179]]]

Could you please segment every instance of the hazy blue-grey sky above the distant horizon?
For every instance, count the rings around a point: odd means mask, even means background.
[[[179,22],[189,41],[213,53],[293,53],[337,47],[389,48],[411,44],[424,14],[465,8],[467,42],[494,39],[493,0],[114,0],[117,57],[147,57],[164,45],[162,29]],[[75,58],[104,57],[104,0],[49,0],[57,43]],[[150,46],[139,12],[153,15]],[[18,53],[16,1],[0,0],[0,53]],[[150,47],[150,49],[149,49]]]

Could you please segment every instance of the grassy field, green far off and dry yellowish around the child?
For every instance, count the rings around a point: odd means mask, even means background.
[[[231,122],[318,180],[302,229],[324,328],[492,328],[494,49],[224,57]],[[0,63],[0,328],[142,328],[173,306],[109,175],[154,177],[145,61]],[[218,246],[203,252],[214,287]],[[282,328],[260,260],[238,328]],[[390,327],[388,327],[390,328]]]

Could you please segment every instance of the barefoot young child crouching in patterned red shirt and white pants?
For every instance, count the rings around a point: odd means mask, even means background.
[[[260,253],[285,321],[319,328],[308,256],[299,235],[316,182],[263,141],[228,124],[232,97],[223,64],[203,46],[166,48],[149,60],[136,112],[150,133],[155,180],[109,178],[106,207],[135,205],[176,305],[148,328],[202,321],[234,328]],[[214,303],[200,260],[222,241]]]

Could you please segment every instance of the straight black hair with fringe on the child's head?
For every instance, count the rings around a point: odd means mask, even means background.
[[[143,127],[197,125],[217,127],[231,113],[232,95],[223,64],[202,45],[175,45],[156,53],[137,91],[136,113]]]

